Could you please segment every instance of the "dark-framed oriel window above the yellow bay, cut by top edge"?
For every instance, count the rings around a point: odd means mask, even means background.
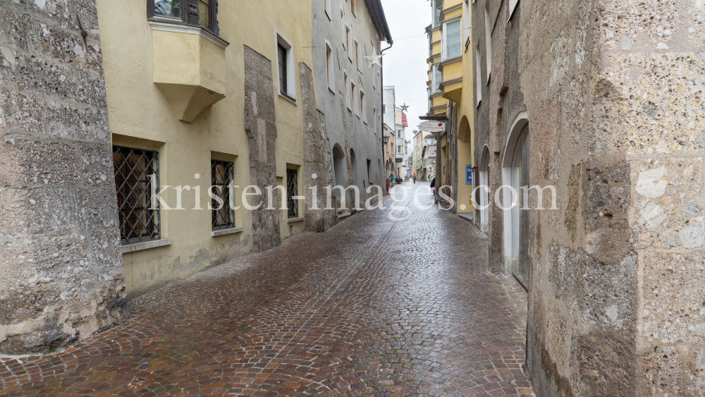
[[[200,26],[219,35],[218,0],[147,0],[147,17]]]

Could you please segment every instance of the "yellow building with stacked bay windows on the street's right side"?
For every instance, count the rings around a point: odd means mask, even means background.
[[[444,133],[436,133],[436,185],[453,187],[454,211],[474,213],[475,162],[472,129],[472,29],[467,0],[431,1],[429,35],[429,112],[446,117]],[[468,175],[468,169],[470,173]],[[470,178],[467,178],[470,176]]]

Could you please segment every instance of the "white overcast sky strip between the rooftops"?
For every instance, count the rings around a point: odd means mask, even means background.
[[[384,52],[384,85],[396,87],[396,106],[406,103],[409,127],[406,140],[421,123],[429,108],[426,91],[428,80],[429,39],[425,28],[431,25],[431,3],[428,0],[382,0],[384,14],[394,45]],[[382,43],[383,49],[388,47]],[[408,145],[412,153],[412,145]]]

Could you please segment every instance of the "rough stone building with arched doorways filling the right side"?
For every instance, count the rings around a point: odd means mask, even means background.
[[[473,1],[489,269],[527,288],[537,396],[705,394],[704,16],[695,0]],[[553,186],[558,209],[548,189],[499,209],[501,185]]]

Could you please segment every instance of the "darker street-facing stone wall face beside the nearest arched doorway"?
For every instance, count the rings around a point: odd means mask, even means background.
[[[539,395],[640,395],[630,164],[624,148],[594,150],[601,126],[620,124],[597,102],[621,106],[596,77],[600,13],[594,1],[525,1],[508,40],[529,115],[530,183],[555,186],[560,208],[529,217],[527,367]]]

